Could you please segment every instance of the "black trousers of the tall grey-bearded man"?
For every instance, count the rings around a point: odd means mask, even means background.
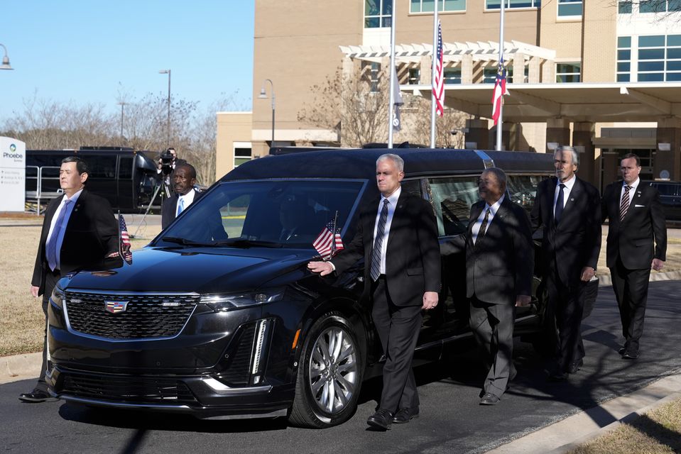
[[[570,364],[578,362],[585,355],[582,315],[587,283],[582,282],[579,277],[571,282],[562,282],[554,265],[547,272],[546,289],[558,328],[555,372],[570,372]]]

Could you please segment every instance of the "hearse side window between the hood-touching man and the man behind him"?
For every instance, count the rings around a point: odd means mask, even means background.
[[[428,182],[438,235],[464,233],[468,227],[471,205],[480,199],[478,177],[431,178]]]

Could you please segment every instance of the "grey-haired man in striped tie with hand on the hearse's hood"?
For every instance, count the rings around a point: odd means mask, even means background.
[[[342,273],[364,258],[364,297],[373,301],[371,316],[386,363],[383,392],[369,426],[388,429],[418,416],[418,392],[411,362],[421,327],[421,309],[437,305],[440,247],[432,208],[402,192],[404,161],[386,154],[376,161],[381,197],[364,206],[352,242],[330,262],[310,262],[320,275]]]

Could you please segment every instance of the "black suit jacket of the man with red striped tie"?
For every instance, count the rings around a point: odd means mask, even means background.
[[[601,201],[603,221],[609,218],[607,264],[615,267],[617,258],[629,270],[650,268],[653,258],[665,260],[667,228],[658,189],[639,182],[631,204],[620,221],[622,182],[606,187]],[[654,243],[654,244],[653,244]]]

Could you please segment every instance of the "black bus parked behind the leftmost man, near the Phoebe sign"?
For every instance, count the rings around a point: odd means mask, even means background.
[[[29,204],[43,206],[61,194],[59,167],[68,156],[78,156],[87,163],[87,189],[107,199],[114,210],[141,211],[151,202],[158,183],[153,153],[124,147],[81,147],[26,150]],[[160,206],[160,199],[155,203]]]

